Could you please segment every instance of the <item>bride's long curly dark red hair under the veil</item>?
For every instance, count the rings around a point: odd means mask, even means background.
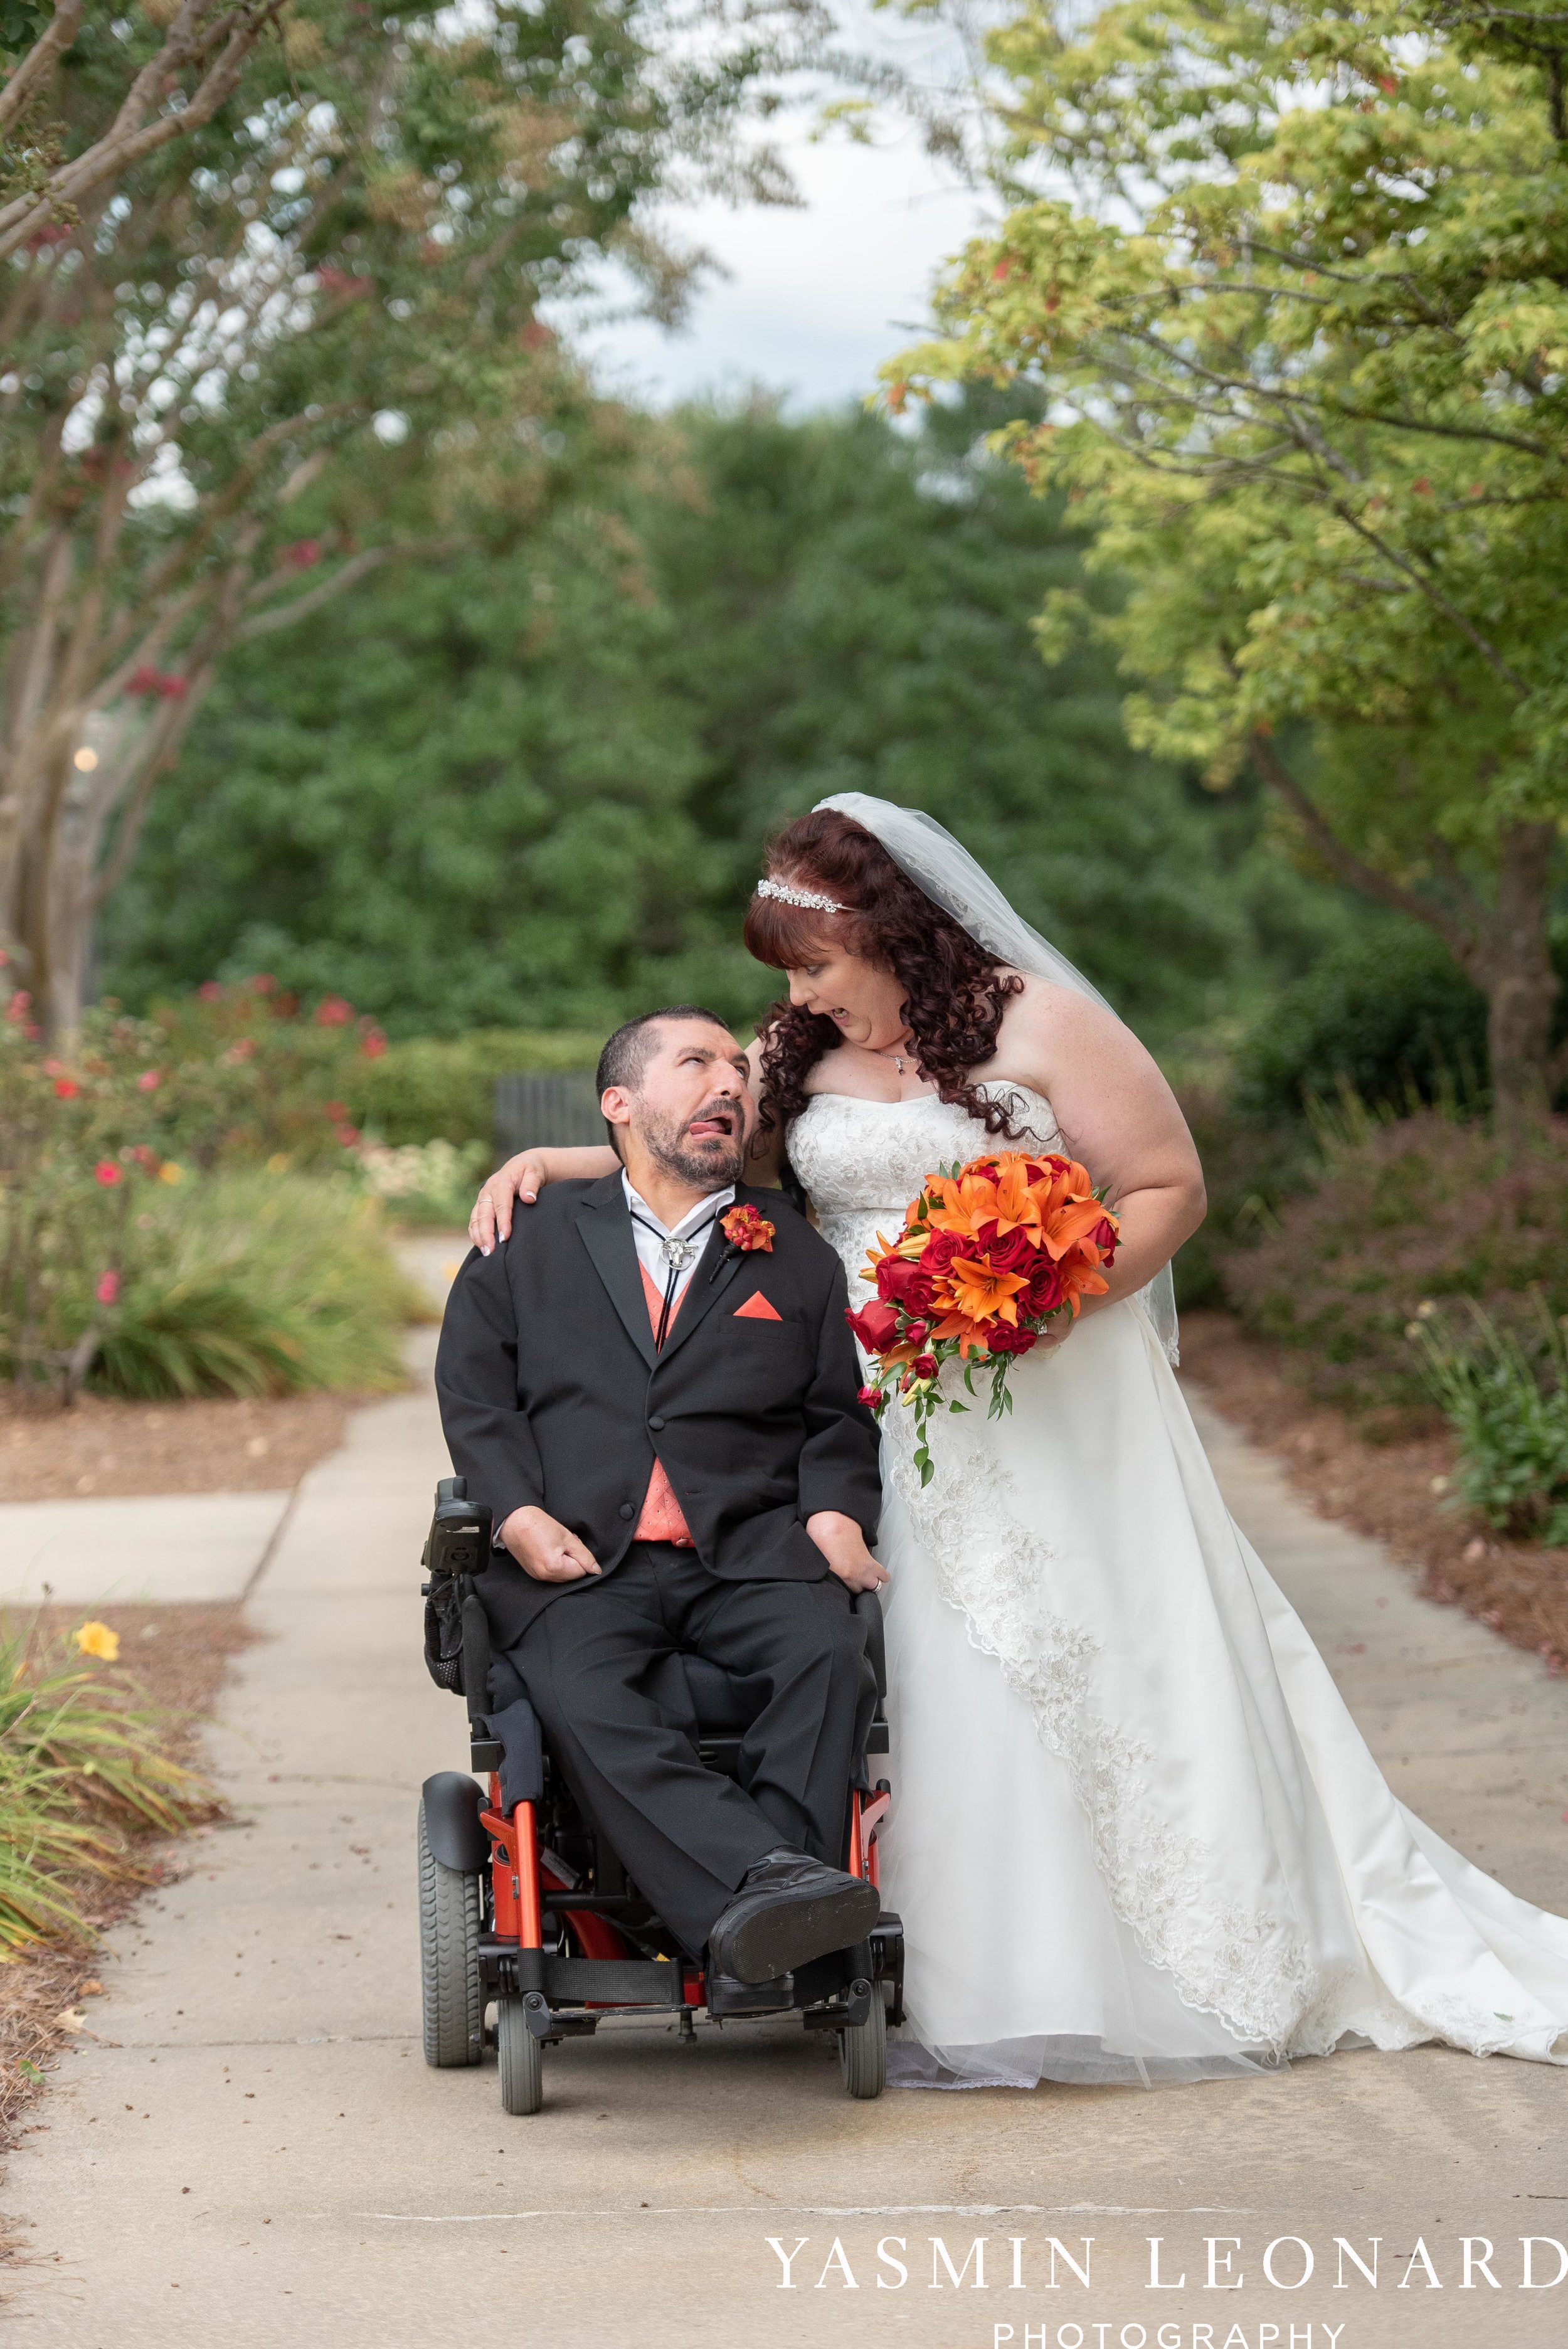
[[[995,1052],[1007,998],[1023,980],[969,937],[894,864],[864,824],[836,808],[798,815],[768,848],[768,879],[831,897],[843,914],[753,897],[746,951],[772,970],[800,970],[824,951],[859,954],[904,987],[904,1024],[927,1081],[944,1102],[967,1109],[988,1135],[1012,1137],[1002,1102],[969,1083]],[[763,1019],[763,1123],[789,1125],[805,1109],[805,1078],[843,1036],[831,1019],[775,1003]]]

